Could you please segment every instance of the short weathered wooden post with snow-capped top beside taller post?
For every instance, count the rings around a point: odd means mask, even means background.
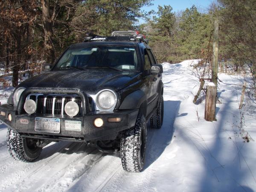
[[[204,119],[207,121],[216,121],[215,108],[216,108],[216,95],[217,87],[213,82],[207,84],[206,99],[204,108]]]

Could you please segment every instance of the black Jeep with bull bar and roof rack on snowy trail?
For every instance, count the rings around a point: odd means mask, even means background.
[[[90,36],[21,82],[0,106],[11,156],[30,162],[52,141],[86,142],[140,172],[146,122],[163,123],[163,67],[147,42],[132,31]]]

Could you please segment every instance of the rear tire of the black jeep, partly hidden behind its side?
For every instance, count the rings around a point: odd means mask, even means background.
[[[160,129],[163,125],[163,96],[160,97],[160,101],[157,106],[157,110],[150,118],[150,126],[154,129]]]

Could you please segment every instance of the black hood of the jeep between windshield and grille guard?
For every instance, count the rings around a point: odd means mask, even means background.
[[[121,72],[111,69],[59,70],[34,76],[19,87],[77,88],[95,94],[102,89],[118,91],[139,80],[139,72]]]

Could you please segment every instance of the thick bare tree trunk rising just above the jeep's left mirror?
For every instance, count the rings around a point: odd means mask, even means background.
[[[54,64],[55,61],[55,50],[52,43],[53,37],[53,18],[50,15],[50,4],[49,0],[41,0],[42,11],[43,11],[43,25],[44,25],[44,49],[46,53],[46,63]],[[55,12],[55,10],[54,10]],[[53,12],[53,15],[55,14]]]

